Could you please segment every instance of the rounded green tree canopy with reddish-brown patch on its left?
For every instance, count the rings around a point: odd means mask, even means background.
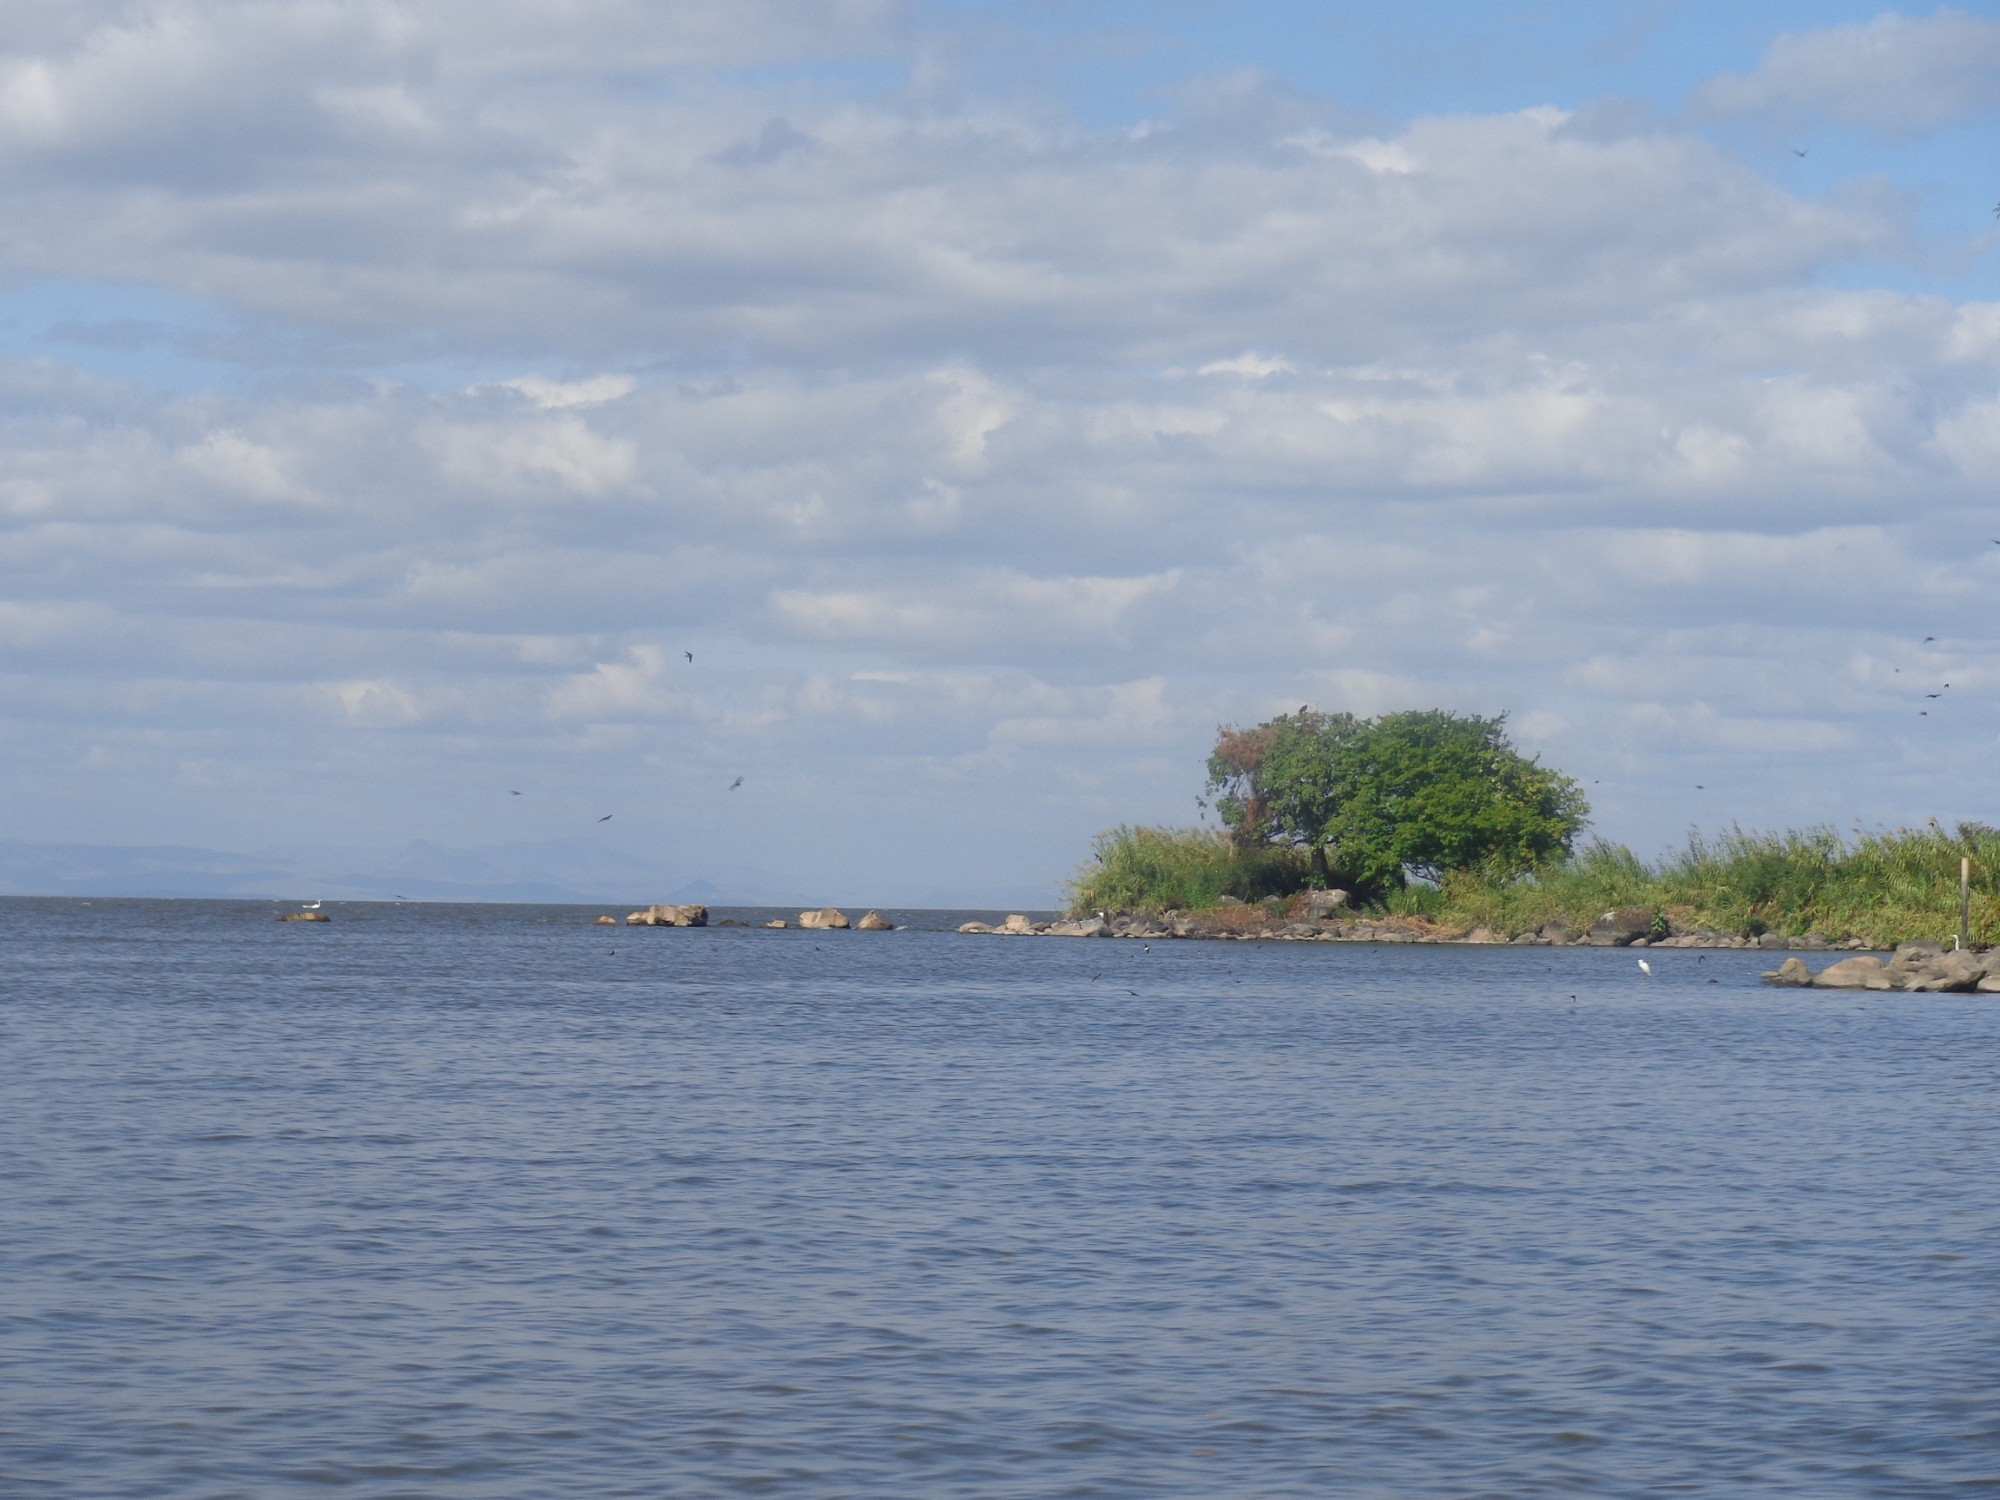
[[[1362,892],[1450,870],[1528,870],[1568,854],[1590,808],[1522,756],[1506,714],[1428,708],[1364,720],[1300,708],[1222,728],[1206,800],[1240,846],[1304,850],[1314,878]]]

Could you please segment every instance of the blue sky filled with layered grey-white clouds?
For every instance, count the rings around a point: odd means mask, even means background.
[[[2000,4],[6,6],[0,832],[1048,904],[1300,704],[2000,822],[1996,126]]]

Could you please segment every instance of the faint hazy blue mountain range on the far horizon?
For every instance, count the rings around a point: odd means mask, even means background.
[[[752,866],[690,870],[584,840],[474,848],[418,840],[398,850],[296,854],[0,840],[0,894],[714,906],[814,906],[828,900],[788,890],[782,878]]]

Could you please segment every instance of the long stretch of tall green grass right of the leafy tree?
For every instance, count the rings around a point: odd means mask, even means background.
[[[2000,942],[2000,830],[1938,824],[1858,832],[1834,828],[1690,834],[1658,864],[1594,844],[1526,876],[1460,872],[1412,886],[1388,908],[1500,932],[1546,922],[1584,928],[1608,910],[1646,906],[1676,930],[1778,932],[1888,944],[1958,930],[1958,860],[1972,858],[1972,938]]]

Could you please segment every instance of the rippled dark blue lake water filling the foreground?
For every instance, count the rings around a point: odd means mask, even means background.
[[[0,902],[0,1494],[2000,1490],[1992,996],[272,910]]]

